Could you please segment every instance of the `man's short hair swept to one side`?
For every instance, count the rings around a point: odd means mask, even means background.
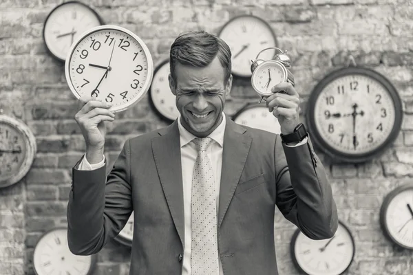
[[[231,50],[222,39],[204,30],[185,32],[171,45],[169,66],[176,85],[175,67],[177,63],[194,67],[207,67],[218,55],[224,67],[224,84],[231,75]]]

